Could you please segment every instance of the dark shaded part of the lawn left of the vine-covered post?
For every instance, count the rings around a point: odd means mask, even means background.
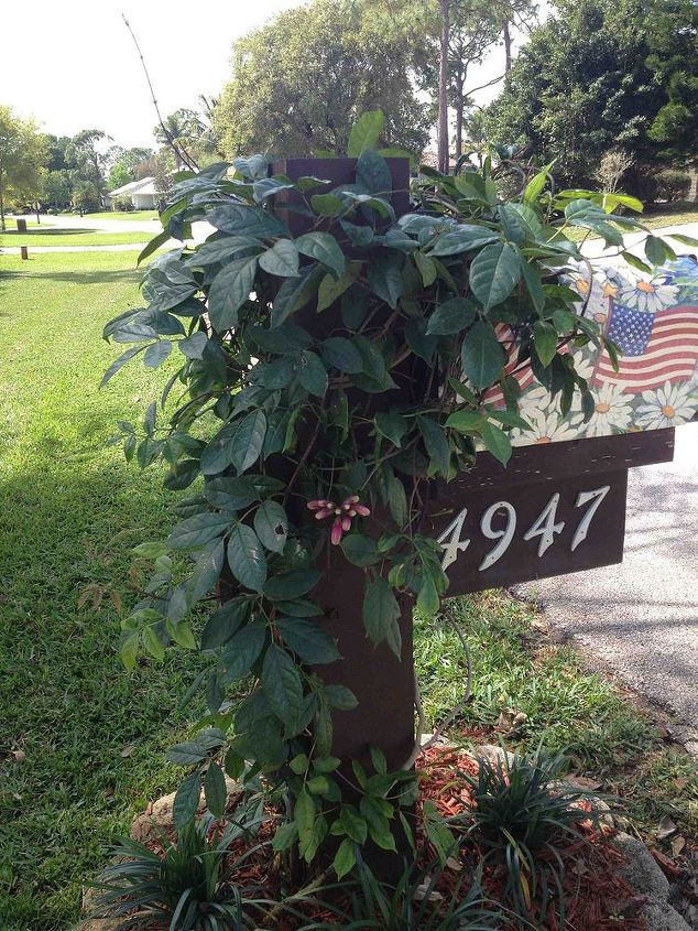
[[[130,550],[172,522],[159,475],[48,445],[0,485],[1,743],[24,754],[0,753],[0,916],[13,931],[72,927],[101,845],[177,784],[163,751],[200,662],[177,650],[129,676],[117,653],[110,593],[133,603]]]

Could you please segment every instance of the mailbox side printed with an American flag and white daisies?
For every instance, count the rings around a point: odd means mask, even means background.
[[[519,381],[520,412],[530,430],[513,430],[513,445],[550,443],[584,436],[659,430],[698,415],[698,264],[690,258],[668,263],[652,275],[630,268],[604,269],[589,281],[581,272],[569,282],[587,300],[587,315],[620,349],[615,371],[606,350],[592,344],[575,349],[577,370],[595,399],[589,420],[577,393],[566,416],[559,398],[549,399],[530,367],[508,366]],[[508,347],[508,327],[499,329]],[[486,398],[503,405],[493,389]]]

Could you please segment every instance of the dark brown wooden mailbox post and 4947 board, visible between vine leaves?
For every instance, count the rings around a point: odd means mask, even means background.
[[[400,216],[408,209],[408,163],[386,161]],[[356,160],[290,159],[275,163],[273,172],[292,180],[315,175],[338,186],[355,181]],[[310,223],[294,209],[301,205],[296,192],[276,197],[276,212],[294,235],[306,232]],[[305,308],[297,318],[317,338],[338,323],[332,308],[319,316]],[[408,403],[424,383],[414,371],[400,371],[395,380],[400,388],[391,392],[391,404]],[[377,396],[377,403],[384,404],[385,398]],[[456,480],[425,483],[419,529],[444,548],[448,595],[621,562],[628,470],[669,462],[673,450],[670,429],[521,446],[506,468],[481,453],[476,467]],[[367,638],[363,571],[339,548],[329,548],[326,570],[315,595],[342,659],[317,672],[327,682],[348,686],[358,699],[356,710],[336,716],[334,753],[346,761],[368,761],[373,745],[383,750],[390,768],[400,768],[410,759],[415,739],[412,600],[402,602],[397,660],[385,643],[374,647]]]

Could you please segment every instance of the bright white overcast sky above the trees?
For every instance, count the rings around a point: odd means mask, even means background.
[[[130,148],[152,147],[153,104],[137,35],[163,115],[196,107],[230,77],[232,42],[299,0],[1,0],[0,104],[33,116],[45,132],[102,129]],[[192,56],[194,33],[201,51]],[[471,86],[503,69],[501,48],[473,69]],[[477,95],[483,105],[495,85]]]

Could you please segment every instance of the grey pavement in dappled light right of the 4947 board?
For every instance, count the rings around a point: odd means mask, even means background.
[[[673,463],[630,472],[621,565],[519,589],[698,740],[698,423],[677,427],[676,442]]]

